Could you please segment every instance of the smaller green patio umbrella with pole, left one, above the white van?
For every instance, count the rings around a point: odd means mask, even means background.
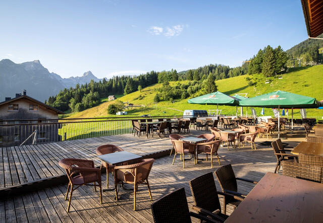
[[[205,105],[205,104],[217,105],[217,117],[218,117],[219,105],[229,105],[229,106],[239,105],[238,99],[232,96],[223,94],[222,92],[219,92],[219,91],[189,99],[187,100],[187,102],[191,104],[200,104],[200,105]]]

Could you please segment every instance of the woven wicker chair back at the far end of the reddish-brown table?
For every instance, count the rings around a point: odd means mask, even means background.
[[[323,183],[322,168],[282,161],[283,175]]]

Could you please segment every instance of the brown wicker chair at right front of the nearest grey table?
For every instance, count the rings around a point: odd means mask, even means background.
[[[154,159],[144,159],[139,161],[137,164],[117,166],[114,169],[115,177],[115,189],[116,189],[116,200],[118,200],[118,185],[122,183],[133,185],[133,209],[136,210],[136,191],[138,190],[139,184],[146,184],[148,186],[148,192],[150,200],[152,200],[148,176],[152,167]]]

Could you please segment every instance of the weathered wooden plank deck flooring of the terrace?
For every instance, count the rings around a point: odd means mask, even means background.
[[[287,132],[287,131],[286,131]],[[196,136],[205,131],[191,129],[190,134]],[[207,132],[208,133],[208,132]],[[275,135],[274,135],[275,136]],[[291,146],[305,139],[305,132],[296,132],[287,141]],[[244,177],[259,181],[267,172],[273,172],[276,166],[276,158],[270,146],[261,146],[261,141],[273,141],[274,139],[257,138],[257,150],[251,151],[250,146],[231,146],[219,149],[221,165],[231,163],[237,177]],[[98,138],[79,139],[55,143],[25,145],[2,148],[2,160],[0,165],[0,188],[3,190],[11,187],[28,185],[35,181],[65,174],[64,169],[58,165],[63,158],[85,158],[94,160],[96,166],[100,161],[96,158],[95,148],[102,144],[117,144],[124,150],[145,156],[156,153],[168,152],[172,145],[170,139],[158,137],[140,138],[131,134],[105,136]],[[199,156],[201,158],[202,156]],[[214,172],[219,167],[217,160],[199,161],[194,165],[192,160],[182,162],[177,158],[172,165],[173,156],[156,158],[149,176],[153,201],[180,187],[185,187],[188,202],[193,202],[188,181],[204,173]],[[113,177],[109,177],[110,185],[113,185]],[[102,173],[102,186],[105,188],[105,173]],[[216,180],[218,189],[220,185]],[[130,187],[130,186],[129,186]],[[248,193],[253,188],[249,183],[238,182],[239,191]],[[66,212],[68,201],[65,201],[67,183],[39,189],[34,192],[10,196],[0,201],[0,214],[3,222],[27,222],[27,221],[51,221],[51,222],[151,222],[153,221],[146,186],[139,186],[137,196],[137,211],[133,210],[133,192],[120,190],[118,201],[114,200],[114,191],[102,193],[103,203],[99,202],[99,193],[94,192],[93,187],[82,186],[73,193],[70,212]],[[12,194],[13,195],[13,194]],[[227,208],[227,214],[232,210]],[[193,219],[195,220],[195,219]]]

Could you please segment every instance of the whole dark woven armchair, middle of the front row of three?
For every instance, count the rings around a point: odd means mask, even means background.
[[[225,211],[224,213],[221,212],[219,194],[230,195],[217,191],[217,186],[214,182],[212,172],[194,178],[193,180],[189,181],[189,185],[194,200],[192,209],[197,211],[199,214],[217,218],[221,221],[225,221],[228,218]]]

